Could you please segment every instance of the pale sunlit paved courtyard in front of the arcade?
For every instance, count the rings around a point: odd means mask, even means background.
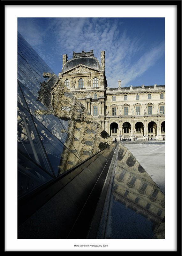
[[[125,146],[165,194],[165,144],[129,142]]]

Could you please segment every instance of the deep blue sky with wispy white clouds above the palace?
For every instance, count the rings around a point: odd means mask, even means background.
[[[164,18],[18,18],[18,31],[57,75],[63,54],[93,50],[110,87],[165,84]]]

